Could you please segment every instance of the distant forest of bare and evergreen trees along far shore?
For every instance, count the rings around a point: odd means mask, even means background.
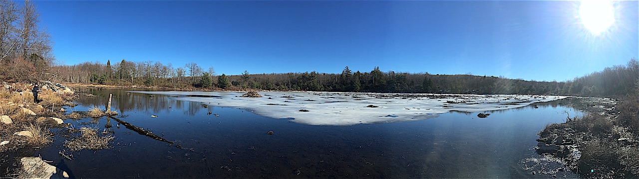
[[[310,90],[329,92],[396,92],[447,94],[557,94],[580,96],[615,96],[636,93],[639,86],[639,61],[605,68],[567,82],[535,82],[499,76],[433,75],[429,73],[383,72],[379,67],[364,73],[348,66],[342,73],[270,73],[216,75],[209,67],[196,63],[174,68],[160,62],[114,64],[107,60],[70,66],[51,66],[43,80],[66,83],[105,85],[140,85],[158,87],[194,87],[226,90]]]

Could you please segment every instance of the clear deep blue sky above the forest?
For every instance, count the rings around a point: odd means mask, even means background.
[[[218,75],[381,71],[571,80],[639,57],[638,1],[594,35],[579,1],[35,1],[60,64]]]

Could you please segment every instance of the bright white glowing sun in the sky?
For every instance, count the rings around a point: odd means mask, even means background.
[[[586,29],[598,36],[615,24],[615,8],[612,1],[582,0],[579,18]]]

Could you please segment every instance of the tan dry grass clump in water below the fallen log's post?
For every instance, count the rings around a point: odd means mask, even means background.
[[[91,127],[81,127],[80,136],[76,136],[69,141],[65,141],[65,147],[72,151],[78,151],[83,149],[88,150],[100,150],[104,148],[111,148],[109,143],[113,140],[111,134],[98,134],[98,129]]]

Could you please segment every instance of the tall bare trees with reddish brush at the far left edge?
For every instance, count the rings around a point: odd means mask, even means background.
[[[19,3],[20,2],[20,3]],[[24,3],[22,3],[24,2]],[[33,2],[0,0],[0,73],[3,80],[28,81],[53,75],[52,41],[40,28]]]

